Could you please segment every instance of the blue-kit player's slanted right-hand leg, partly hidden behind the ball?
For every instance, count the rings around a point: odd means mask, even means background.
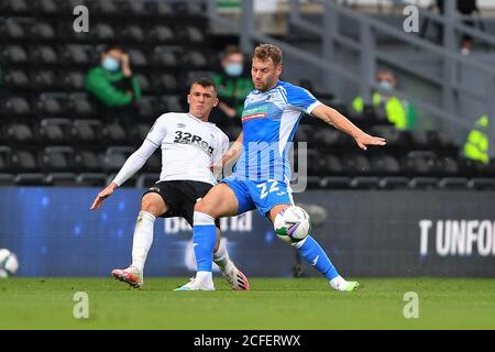
[[[275,221],[275,217],[289,206],[289,204],[282,204],[271,208],[268,211],[268,218],[272,223]],[[330,286],[333,289],[340,292],[350,292],[355,290],[360,287],[359,283],[348,282],[339,275],[337,268],[333,266],[327,253],[310,234],[308,234],[304,240],[293,243],[292,245],[299,251],[299,254],[308,264],[314,266],[329,279]]]

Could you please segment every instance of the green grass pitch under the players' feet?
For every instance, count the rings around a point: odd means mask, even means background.
[[[146,278],[131,289],[112,278],[0,280],[0,329],[495,329],[495,279],[363,278],[337,293],[320,278],[252,278],[251,292],[173,292],[186,278]],[[86,292],[89,318],[73,316]],[[404,294],[419,298],[406,319]]]

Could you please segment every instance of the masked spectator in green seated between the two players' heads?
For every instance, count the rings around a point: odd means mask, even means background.
[[[244,100],[253,90],[253,84],[244,69],[244,55],[239,47],[227,47],[222,55],[221,69],[221,73],[213,76],[220,102],[211,120],[220,124],[240,124]]]

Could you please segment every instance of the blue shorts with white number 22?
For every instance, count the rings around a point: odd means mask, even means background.
[[[221,180],[229,186],[239,201],[238,213],[257,208],[262,216],[277,205],[294,205],[290,185],[285,182],[239,179],[235,174]]]

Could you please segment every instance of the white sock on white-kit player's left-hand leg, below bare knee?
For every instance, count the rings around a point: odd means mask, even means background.
[[[143,273],[147,252],[153,243],[153,226],[155,217],[146,211],[140,211],[135,222],[134,239],[132,243],[132,266]]]

